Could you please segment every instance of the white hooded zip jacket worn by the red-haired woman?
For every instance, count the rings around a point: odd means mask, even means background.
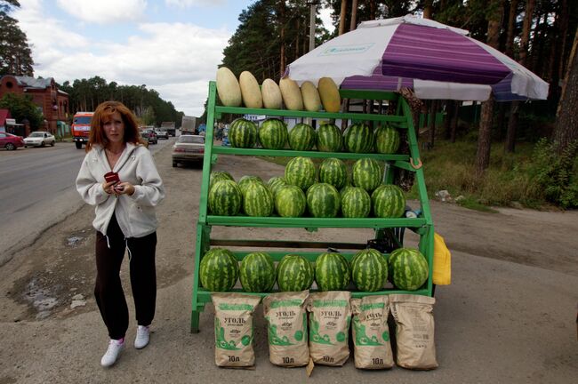
[[[125,238],[142,237],[155,232],[155,207],[165,198],[165,187],[149,149],[126,143],[126,148],[112,170],[118,173],[121,181],[128,181],[134,186],[132,196],[115,197],[104,191],[104,174],[110,171],[104,149],[94,146],[84,156],[76,177],[76,190],[84,202],[95,205],[92,226],[107,235],[108,223],[116,212],[116,221]]]

